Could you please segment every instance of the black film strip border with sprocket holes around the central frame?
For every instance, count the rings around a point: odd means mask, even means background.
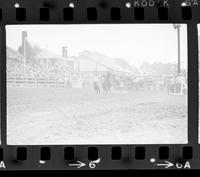
[[[139,0],[140,1],[140,0]],[[151,0],[146,0],[150,2]],[[184,17],[185,7],[182,7],[184,0],[168,0],[168,18],[158,18],[158,8],[162,7],[164,0],[154,0],[159,2],[157,6],[139,7],[143,9],[144,19],[135,18],[134,6],[126,7],[126,1],[123,0],[74,0],[75,7],[73,8],[73,19],[65,20],[63,18],[63,8],[68,7],[72,1],[57,1],[56,0],[19,0],[20,8],[24,8],[26,18],[17,20],[16,8],[14,5],[16,1],[0,0],[0,65],[1,65],[1,145],[0,145],[0,158],[1,151],[3,150],[3,159],[6,169],[8,170],[43,170],[43,169],[69,169],[74,170],[77,168],[69,167],[69,163],[81,161],[87,165],[80,169],[92,169],[89,167],[91,160],[88,159],[88,148],[97,147],[98,157],[101,157],[101,163],[96,165],[95,169],[165,169],[153,165],[150,160],[155,158],[159,160],[159,148],[167,147],[169,149],[169,157],[165,160],[173,164],[185,164],[189,161],[191,169],[200,169],[200,145],[198,144],[198,31],[197,24],[200,23],[200,6],[189,5],[186,9],[190,9],[190,18]],[[132,5],[134,0],[127,1]],[[161,4],[160,4],[161,3]],[[155,3],[156,4],[156,3]],[[200,4],[200,2],[199,2]],[[88,19],[87,8],[96,8],[96,19]],[[111,8],[117,8],[117,19],[111,18]],[[49,9],[49,19],[40,19],[40,8]],[[94,9],[93,9],[94,10]],[[141,11],[139,11],[141,13]],[[24,12],[21,12],[22,14]],[[92,13],[92,12],[91,12]],[[187,13],[187,10],[186,10]],[[93,13],[92,13],[93,14]],[[120,16],[120,18],[119,18]],[[18,17],[19,18],[19,17]],[[188,144],[135,144],[135,145],[38,145],[38,146],[11,146],[6,143],[6,31],[5,25],[14,24],[126,24],[126,23],[183,23],[187,24],[187,38],[188,38]],[[17,148],[25,147],[27,149],[27,160],[17,160]],[[44,160],[45,164],[40,162],[40,150],[42,147],[50,148],[51,158]],[[75,157],[73,160],[64,159],[64,148],[74,147]],[[112,148],[121,147],[121,158],[112,160]],[[136,160],[136,148],[145,148],[145,158]],[[119,149],[119,148],[118,148]],[[184,150],[186,149],[186,150]],[[187,151],[192,150],[193,157],[187,159]],[[183,154],[186,152],[186,159]],[[118,154],[118,153],[117,153]],[[23,158],[22,158],[23,159]],[[164,162],[165,160],[159,160]],[[184,169],[183,167],[181,167]],[[168,169],[177,169],[174,165]],[[1,169],[0,169],[1,170]]]

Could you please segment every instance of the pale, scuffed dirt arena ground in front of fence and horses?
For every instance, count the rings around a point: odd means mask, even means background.
[[[187,97],[8,88],[9,145],[187,143]]]

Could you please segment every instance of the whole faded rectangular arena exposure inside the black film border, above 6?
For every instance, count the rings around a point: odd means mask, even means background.
[[[7,25],[7,143],[185,144],[185,24]]]

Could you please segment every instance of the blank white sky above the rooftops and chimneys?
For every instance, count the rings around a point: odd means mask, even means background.
[[[181,65],[187,68],[187,26],[181,24]],[[134,66],[143,62],[177,62],[177,30],[173,24],[7,25],[7,45],[17,50],[21,32],[27,40],[58,55],[67,46],[69,56],[83,50],[124,58]]]

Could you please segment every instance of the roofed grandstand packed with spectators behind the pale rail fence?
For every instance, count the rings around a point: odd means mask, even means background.
[[[36,55],[39,64],[26,63],[21,53],[7,47],[7,85],[20,87],[65,87],[71,61],[46,49]]]

